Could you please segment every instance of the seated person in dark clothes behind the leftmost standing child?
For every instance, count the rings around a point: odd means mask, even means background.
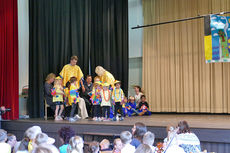
[[[51,92],[52,92],[51,90],[53,89],[53,82],[54,82],[55,78],[56,78],[55,74],[53,74],[53,73],[48,74],[46,77],[45,85],[44,85],[44,96],[46,99],[46,103],[50,106],[53,113],[56,109],[56,106],[53,103],[53,96],[51,94]]]

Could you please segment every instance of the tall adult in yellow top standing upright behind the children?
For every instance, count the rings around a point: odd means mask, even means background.
[[[70,59],[70,64],[66,64],[62,71],[60,72],[60,76],[63,78],[63,86],[66,85],[66,83],[70,80],[71,77],[77,78],[77,88],[80,88],[80,85],[82,87],[82,91],[85,92],[85,87],[83,85],[83,73],[81,71],[81,68],[77,65],[78,57],[72,56]]]

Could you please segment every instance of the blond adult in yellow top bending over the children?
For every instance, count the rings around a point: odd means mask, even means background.
[[[114,89],[115,78],[109,71],[106,71],[102,66],[97,66],[95,68],[95,73],[100,77],[102,83],[108,83]]]

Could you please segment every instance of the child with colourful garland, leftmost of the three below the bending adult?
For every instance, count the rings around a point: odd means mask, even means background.
[[[93,120],[101,121],[101,82],[97,81],[94,83],[91,101],[93,104]]]

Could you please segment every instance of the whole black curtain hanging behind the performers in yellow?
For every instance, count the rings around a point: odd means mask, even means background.
[[[124,82],[127,91],[128,0],[29,2],[30,117],[43,117],[45,77],[58,74],[72,55],[78,56],[84,75],[89,74],[89,63],[93,72],[96,64],[101,65]]]

